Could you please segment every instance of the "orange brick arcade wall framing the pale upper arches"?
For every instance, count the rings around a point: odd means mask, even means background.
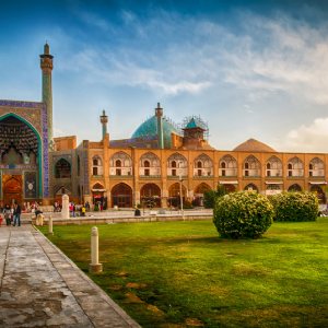
[[[147,184],[155,184],[161,189],[162,206],[167,206],[167,197],[169,197],[169,188],[179,183],[179,173],[176,176],[167,174],[167,161],[173,154],[180,154],[187,160],[187,167],[184,168],[183,173],[183,186],[186,188],[186,197],[192,200],[195,197],[196,189],[201,185],[206,184],[210,188],[215,189],[220,185],[233,185],[236,190],[244,190],[248,185],[253,184],[257,187],[261,194],[274,194],[282,190],[288,190],[292,185],[297,184],[302,190],[309,190],[311,186],[318,185],[324,187],[328,179],[328,154],[321,153],[279,153],[279,152],[234,152],[234,151],[218,151],[218,150],[159,150],[159,149],[133,149],[133,148],[121,148],[110,149],[107,147],[108,141],[90,143],[89,153],[89,180],[90,180],[90,194],[84,194],[84,197],[92,199],[92,188],[94,185],[102,185],[104,187],[104,195],[107,197],[108,207],[112,207],[112,190],[113,188],[124,183],[128,185],[133,191],[133,204],[140,203],[140,190]],[[144,176],[140,173],[142,168],[140,166],[140,159],[147,153],[152,153],[160,159],[160,172],[157,176]],[[117,153],[127,154],[132,162],[132,169],[130,175],[117,175],[109,174],[110,167],[109,162],[113,155]],[[198,156],[206,155],[212,161],[212,168],[210,175],[197,175],[197,163],[195,162]],[[224,155],[231,155],[236,160],[237,169],[234,176],[222,176],[220,175],[220,160]],[[103,171],[99,175],[93,175],[93,159],[98,156],[103,163]],[[245,176],[244,162],[248,156],[254,156],[259,162],[259,174],[258,176]],[[276,156],[281,161],[282,175],[281,176],[267,176],[267,162],[271,156]],[[289,176],[288,164],[293,157],[298,157],[303,163],[303,176]],[[309,162],[313,159],[319,159],[324,163],[324,175],[323,176],[309,176]],[[179,168],[177,168],[178,171]],[[115,171],[114,171],[115,172]],[[268,186],[278,186],[278,191],[267,191]],[[273,188],[272,187],[272,188]],[[276,188],[276,187],[274,187]]]

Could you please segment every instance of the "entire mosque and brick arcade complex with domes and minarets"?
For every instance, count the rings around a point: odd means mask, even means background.
[[[202,204],[203,192],[316,191],[326,203],[328,154],[282,153],[249,139],[231,151],[209,144],[207,124],[190,116],[180,126],[159,103],[131,138],[112,140],[108,117],[99,116],[102,140],[52,136],[52,61],[49,45],[40,56],[42,102],[0,99],[0,203],[52,204],[63,194],[77,203],[131,208]]]

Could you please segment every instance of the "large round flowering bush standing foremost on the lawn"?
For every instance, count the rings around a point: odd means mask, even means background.
[[[239,191],[219,198],[213,223],[222,237],[258,238],[271,225],[273,207],[266,196]]]

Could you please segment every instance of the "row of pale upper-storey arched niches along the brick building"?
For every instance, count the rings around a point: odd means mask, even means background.
[[[79,161],[79,159],[78,159]],[[109,160],[109,175],[112,176],[129,176],[132,175],[132,159],[125,152],[115,153]],[[285,176],[302,177],[304,176],[304,163],[297,156],[288,161],[285,167]],[[325,176],[324,161],[314,157],[308,164],[309,177]],[[92,159],[92,175],[103,175],[103,160],[96,155]],[[282,177],[283,164],[277,156],[271,156],[265,163],[265,176],[267,177]],[[236,159],[232,155],[225,155],[219,161],[219,176],[237,176],[238,164]],[[79,169],[78,169],[79,175]],[[168,176],[187,176],[188,162],[185,156],[179,153],[171,155],[167,160],[167,175]],[[161,176],[161,161],[160,159],[149,152],[143,154],[139,160],[139,176]],[[213,162],[206,155],[201,154],[194,161],[194,176],[213,176]],[[258,177],[261,176],[261,163],[254,156],[249,155],[243,162],[243,176]],[[56,178],[71,177],[71,164],[65,159],[60,159],[55,164]]]

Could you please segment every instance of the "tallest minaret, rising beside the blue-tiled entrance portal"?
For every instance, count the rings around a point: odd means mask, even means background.
[[[46,43],[44,47],[44,54],[39,55],[40,69],[43,71],[43,103],[47,106],[47,118],[48,118],[48,144],[52,147],[52,83],[51,83],[51,71],[52,71],[52,58],[50,55],[50,47]]]

